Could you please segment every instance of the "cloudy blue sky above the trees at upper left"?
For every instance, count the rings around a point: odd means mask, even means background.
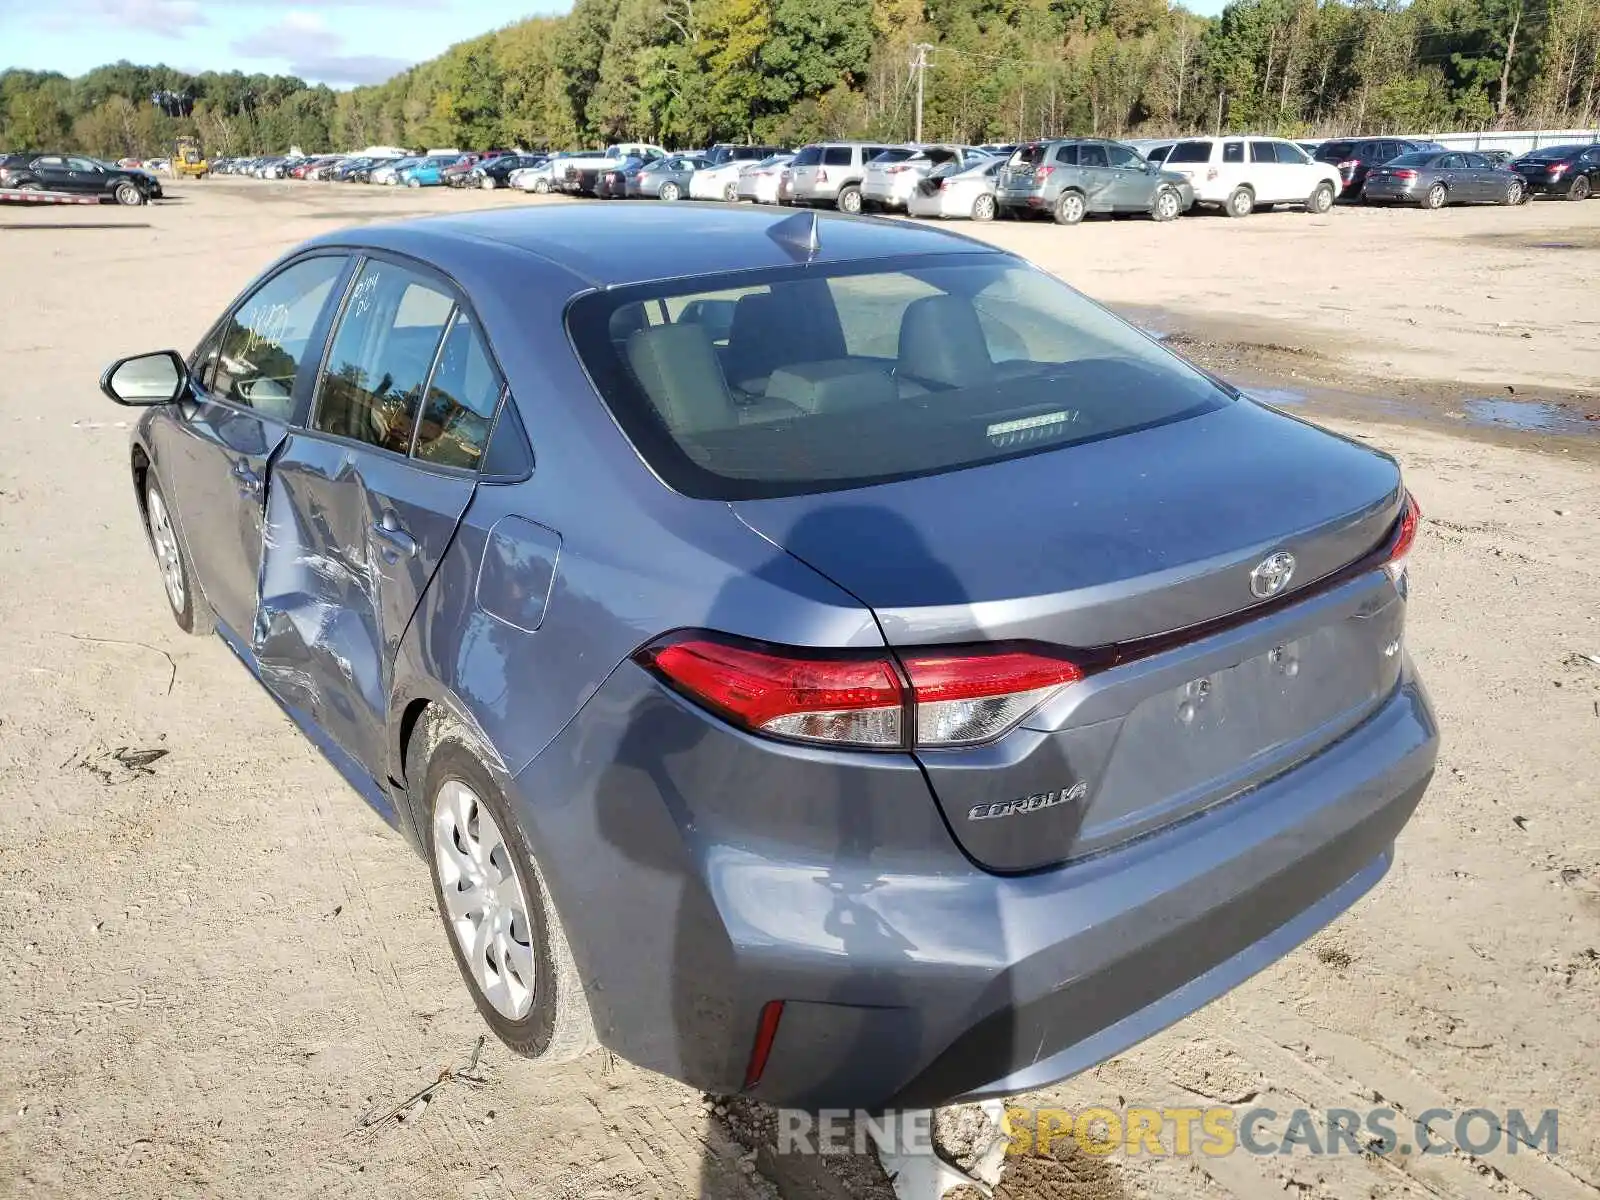
[[[0,69],[102,62],[376,83],[453,42],[570,0],[0,0]]]

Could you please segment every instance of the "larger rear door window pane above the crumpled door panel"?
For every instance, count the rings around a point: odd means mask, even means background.
[[[317,389],[312,429],[405,454],[454,301],[394,262],[370,259],[350,288]]]

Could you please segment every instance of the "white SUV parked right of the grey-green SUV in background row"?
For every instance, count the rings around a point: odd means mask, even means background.
[[[1326,213],[1344,186],[1336,166],[1283,138],[1184,138],[1173,142],[1163,166],[1189,176],[1197,205],[1216,205],[1229,216],[1272,205]]]

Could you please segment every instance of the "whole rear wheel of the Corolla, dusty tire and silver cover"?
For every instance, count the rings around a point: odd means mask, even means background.
[[[483,766],[475,741],[434,706],[418,723],[406,757],[416,762],[414,774],[411,766],[406,774],[422,784],[418,816],[434,902],[478,1013],[501,1042],[525,1058],[581,1058],[597,1045],[582,979],[533,846]],[[493,914],[480,910],[475,922],[470,901],[461,898],[475,891],[462,883],[470,883],[477,870],[498,874],[490,896],[491,904],[499,902]],[[448,902],[446,890],[453,898]],[[478,949],[485,923],[502,928]],[[483,968],[475,968],[474,950],[483,954]]]

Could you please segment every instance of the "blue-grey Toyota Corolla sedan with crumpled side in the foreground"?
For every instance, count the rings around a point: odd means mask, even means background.
[[[1434,770],[1395,462],[962,237],[352,229],[102,387],[178,622],[416,845],[525,1054],[1042,1086],[1338,917]]]

